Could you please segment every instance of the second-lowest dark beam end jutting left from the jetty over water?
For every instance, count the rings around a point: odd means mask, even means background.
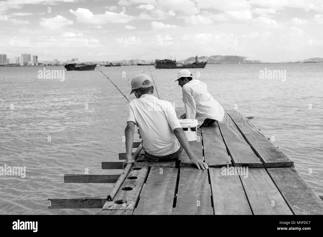
[[[64,183],[115,183],[120,174],[64,174]]]

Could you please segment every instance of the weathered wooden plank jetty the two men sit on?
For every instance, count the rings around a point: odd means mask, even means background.
[[[121,175],[64,175],[65,183],[116,182],[103,192],[109,198],[50,198],[48,208],[102,208],[99,215],[323,214],[322,197],[249,119],[228,110],[222,122],[202,127],[190,145],[207,170],[197,169],[185,151],[176,162],[146,161],[134,143],[136,162]],[[102,162],[102,169],[122,169],[122,162]]]

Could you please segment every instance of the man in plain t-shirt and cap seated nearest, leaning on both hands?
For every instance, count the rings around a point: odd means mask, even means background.
[[[149,76],[138,74],[131,81],[131,93],[137,99],[130,101],[128,107],[126,137],[126,161],[134,163],[132,159],[132,143],[135,124],[139,127],[145,158],[148,161],[169,161],[177,159],[184,149],[190,161],[198,169],[207,169],[208,165],[199,161],[191,150],[186,135],[176,118],[172,104],[166,100],[159,100],[153,96],[154,87]]]

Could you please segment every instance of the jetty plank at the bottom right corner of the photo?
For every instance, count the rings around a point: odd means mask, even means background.
[[[282,167],[267,170],[296,215],[323,215],[322,200],[295,168]]]

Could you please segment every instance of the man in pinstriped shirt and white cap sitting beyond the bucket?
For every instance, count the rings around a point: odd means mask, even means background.
[[[186,113],[182,114],[180,119],[197,119],[198,126],[208,126],[217,120],[222,121],[224,117],[222,106],[208,93],[206,84],[193,80],[192,76],[189,70],[183,69],[172,81],[178,81],[178,85],[182,87]]]

